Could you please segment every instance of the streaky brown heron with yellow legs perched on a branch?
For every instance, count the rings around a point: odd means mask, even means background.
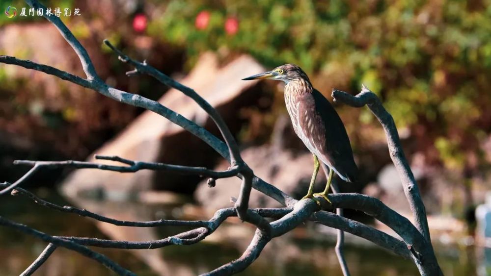
[[[327,194],[333,173],[347,182],[357,181],[358,167],[341,118],[331,103],[312,86],[307,74],[299,66],[284,64],[272,71],[243,78],[252,79],[273,79],[285,83],[285,104],[293,129],[314,158],[314,172],[307,195],[302,199],[310,198],[320,204],[315,197],[321,196],[331,202]],[[314,194],[319,159],[329,168],[329,175],[324,191]]]

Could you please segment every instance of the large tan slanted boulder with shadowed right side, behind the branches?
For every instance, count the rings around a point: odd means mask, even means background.
[[[231,126],[231,131],[238,132],[241,125],[237,123],[240,120],[237,110],[247,104],[254,104],[258,98],[256,93],[259,93],[259,91],[254,92],[249,89],[256,82],[240,79],[262,71],[264,68],[246,55],[219,68],[217,57],[207,53],[201,56],[195,68],[181,82],[193,88],[216,107],[227,125]],[[159,101],[219,135],[216,126],[209,120],[207,114],[180,91],[172,89]],[[117,137],[95,151],[94,154],[119,155],[139,161],[206,167],[213,167],[218,157],[218,154],[204,142],[184,131],[182,127],[174,125],[151,111],[145,111],[137,117],[131,125],[128,125]],[[88,161],[95,160],[89,158]],[[113,164],[113,162],[109,163]],[[136,197],[135,192],[150,189],[192,193],[196,186],[195,183],[199,181],[198,177],[148,170],[134,174],[77,170],[63,182],[62,190],[71,197],[100,191],[99,194],[106,198],[125,200]]]

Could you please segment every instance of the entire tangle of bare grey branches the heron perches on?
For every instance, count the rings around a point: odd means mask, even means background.
[[[44,8],[37,0],[27,0],[27,3],[35,8]],[[171,79],[167,75],[157,69],[149,66],[146,62],[138,62],[123,54],[120,50],[114,48],[108,41],[105,41],[111,50],[118,54],[121,61],[127,62],[132,65],[135,70],[129,72],[127,75],[135,75],[144,73],[151,75],[161,81],[162,83],[173,87],[186,96],[194,100],[202,109],[204,109],[218,126],[225,143],[223,143],[216,136],[211,134],[206,129],[196,125],[190,120],[184,118],[180,114],[168,109],[164,105],[157,101],[149,100],[136,94],[128,93],[110,87],[104,83],[97,75],[95,68],[90,60],[86,50],[82,47],[81,43],[75,38],[70,30],[61,22],[61,20],[55,16],[45,17],[52,22],[60,31],[61,35],[70,44],[79,56],[83,71],[87,76],[83,79],[79,76],[72,75],[70,73],[60,71],[56,68],[37,64],[28,60],[20,60],[15,57],[0,56],[0,63],[14,64],[25,67],[27,69],[37,70],[46,74],[55,75],[61,79],[71,81],[75,84],[81,85],[86,88],[90,88],[94,91],[101,93],[113,100],[117,100],[122,103],[127,103],[133,106],[142,107],[147,110],[151,110],[164,118],[170,120],[176,125],[182,126],[185,130],[189,131],[193,135],[197,136],[220,155],[230,161],[231,168],[226,171],[216,172],[202,167],[188,167],[178,166],[163,163],[151,163],[128,160],[119,156],[96,156],[96,159],[110,160],[124,164],[124,166],[107,165],[94,162],[79,162],[79,161],[16,161],[16,164],[25,164],[33,166],[23,177],[17,180],[13,184],[0,184],[0,187],[4,187],[0,191],[0,195],[16,189],[16,193],[29,197],[36,203],[56,209],[62,212],[76,213],[81,216],[93,218],[101,222],[106,222],[118,226],[137,226],[137,227],[149,227],[149,226],[190,226],[194,227],[189,231],[178,233],[176,235],[163,238],[154,241],[132,242],[132,241],[112,241],[112,240],[100,240],[84,237],[56,237],[50,236],[38,230],[32,229],[22,224],[12,222],[10,220],[0,217],[0,225],[17,229],[29,235],[38,237],[50,245],[43,251],[41,256],[31,265],[39,267],[49,257],[55,247],[65,247],[70,250],[78,251],[79,253],[93,258],[100,263],[106,265],[119,275],[134,275],[126,269],[120,267],[118,264],[112,262],[106,256],[92,251],[85,246],[107,247],[107,248],[121,248],[121,249],[152,249],[160,248],[168,245],[190,245],[197,243],[208,235],[213,233],[218,226],[221,225],[228,217],[238,216],[243,221],[252,223],[257,227],[256,233],[244,252],[244,254],[237,260],[225,264],[218,269],[210,272],[207,275],[229,275],[244,270],[248,267],[261,253],[267,243],[278,236],[292,230],[299,226],[306,220],[313,220],[326,226],[331,226],[339,229],[338,231],[338,244],[336,246],[336,253],[343,268],[343,273],[348,275],[346,263],[342,254],[343,243],[343,231],[347,231],[370,240],[383,248],[393,251],[401,256],[412,258],[417,265],[421,275],[441,275],[436,257],[433,252],[433,248],[430,242],[428,223],[426,221],[426,213],[424,210],[423,202],[419,195],[414,176],[409,169],[408,162],[402,151],[397,129],[390,114],[383,108],[380,100],[363,86],[363,90],[356,97],[345,94],[343,92],[334,90],[333,97],[341,99],[344,102],[356,107],[361,107],[367,104],[370,110],[377,116],[382,123],[389,144],[389,151],[391,158],[398,168],[399,173],[403,178],[403,186],[405,188],[406,197],[408,198],[411,210],[417,221],[417,228],[414,227],[408,219],[404,218],[400,214],[396,213],[381,201],[363,196],[359,194],[334,194],[329,195],[329,199],[332,203],[327,203],[323,199],[319,199],[323,202],[323,205],[328,207],[335,207],[338,209],[338,214],[342,215],[342,208],[352,208],[361,210],[367,214],[378,219],[385,225],[391,227],[398,235],[402,237],[404,242],[394,238],[382,231],[374,229],[372,227],[363,225],[361,223],[343,218],[340,215],[332,214],[326,211],[320,211],[320,206],[313,200],[296,201],[284,192],[275,188],[269,183],[266,183],[262,179],[255,176],[252,170],[243,161],[239,147],[235,142],[227,125],[225,125],[223,119],[218,114],[217,110],[213,108],[206,100],[199,96],[193,89],[182,85],[181,83]],[[225,208],[218,210],[214,217],[209,221],[174,221],[174,220],[159,220],[150,222],[126,222],[111,219],[98,215],[96,213],[89,212],[84,209],[78,209],[68,206],[59,206],[48,201],[39,199],[34,194],[17,188],[27,180],[29,176],[34,174],[40,168],[58,168],[58,167],[73,167],[77,169],[92,168],[101,170],[110,170],[116,172],[136,172],[142,169],[149,170],[166,170],[182,174],[196,174],[201,176],[210,177],[211,179],[238,176],[242,178],[242,185],[240,194],[234,208]],[[213,183],[211,181],[210,183]],[[276,201],[287,206],[286,208],[263,208],[263,209],[249,209],[248,201],[251,189],[255,188],[258,191],[272,197]],[[335,187],[334,187],[335,188]],[[335,190],[335,189],[334,189]],[[265,217],[272,217],[277,219],[272,223],[269,223]],[[51,247],[50,247],[51,246]],[[29,267],[29,268],[31,268]],[[29,271],[29,268],[26,271]],[[35,270],[35,269],[34,269]],[[32,271],[34,271],[32,270]]]

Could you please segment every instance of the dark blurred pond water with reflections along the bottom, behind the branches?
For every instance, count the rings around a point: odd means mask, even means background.
[[[199,208],[186,204],[169,206],[143,203],[114,202],[67,202],[52,191],[38,191],[50,201],[61,205],[81,205],[91,211],[117,219],[155,220],[160,218],[208,219]],[[0,202],[1,216],[21,222],[53,235],[84,236],[125,240],[150,240],[167,237],[185,230],[180,227],[135,228],[97,223],[75,214],[61,213],[37,205],[17,196],[3,198]],[[253,228],[229,219],[204,242],[191,246],[170,246],[157,250],[108,250],[96,249],[130,269],[137,275],[197,275],[213,270],[242,254]],[[324,227],[323,230],[329,230]],[[294,276],[329,275],[342,276],[334,253],[334,232],[319,231],[318,226],[307,224],[295,231],[274,239],[268,244],[251,267],[239,275]],[[0,227],[0,275],[19,275],[44,249],[46,243]],[[347,236],[346,259],[353,276],[413,276],[416,267],[369,243]],[[446,276],[472,276],[476,271],[476,250],[472,247],[437,246],[437,257]],[[479,252],[479,251],[477,251]],[[477,253],[479,255],[479,253]],[[36,276],[105,276],[112,275],[99,263],[76,252],[57,249],[38,270]],[[485,275],[481,273],[481,275]]]

